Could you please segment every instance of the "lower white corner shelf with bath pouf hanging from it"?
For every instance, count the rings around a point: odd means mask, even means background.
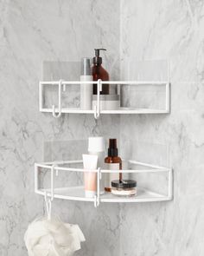
[[[99,190],[97,191],[97,195],[94,198],[86,198],[85,197],[85,189],[84,186],[70,186],[70,187],[61,187],[60,180],[59,186],[59,176],[60,172],[63,174],[80,174],[82,176],[77,176],[77,179],[80,179],[80,182],[83,183],[83,173],[87,172],[87,170],[82,167],[70,167],[77,165],[81,166],[82,161],[54,161],[54,162],[45,162],[45,163],[35,163],[35,193],[41,194],[45,197],[50,197],[51,200],[54,199],[63,199],[63,200],[78,200],[78,201],[90,201],[94,203],[95,207],[99,207],[100,203],[104,202],[112,202],[112,203],[137,203],[137,202],[156,202],[156,201],[167,201],[172,200],[173,198],[173,171],[169,167],[159,167],[156,165],[151,165],[148,163],[143,163],[139,161],[126,160],[128,165],[130,165],[127,169],[123,170],[105,170],[105,169],[96,169],[92,170],[92,172],[97,174],[97,187],[100,187],[100,179],[101,175],[108,174],[111,172],[122,173],[122,174],[137,174],[144,175],[143,181],[137,182],[137,195],[134,196],[118,196],[112,193],[99,194]],[[40,173],[46,171],[48,174],[49,182],[47,186],[43,186],[41,184]],[[154,191],[150,186],[150,180],[152,178],[151,175],[155,177],[155,175],[163,175],[165,176],[165,186],[163,186],[163,181],[157,182],[159,180],[154,181]],[[42,175],[45,177],[44,173]],[[73,176],[72,176],[73,177]],[[80,177],[80,178],[79,178]],[[81,179],[82,177],[82,179]],[[150,178],[151,177],[151,178]],[[67,181],[71,181],[71,176],[68,176]],[[58,182],[58,185],[55,184],[55,180]],[[66,182],[67,182],[66,181]],[[146,182],[147,181],[147,182]],[[80,183],[81,184],[81,183]],[[143,186],[144,185],[144,186]],[[62,185],[63,186],[63,185]],[[47,187],[47,188],[45,188]],[[164,187],[164,192],[161,192],[161,187]]]

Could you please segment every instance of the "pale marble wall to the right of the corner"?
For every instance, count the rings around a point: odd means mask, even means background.
[[[120,255],[204,253],[203,15],[203,1],[121,1],[121,58],[167,59],[171,81],[171,114],[121,116],[121,141],[169,148],[175,197],[123,206]]]

